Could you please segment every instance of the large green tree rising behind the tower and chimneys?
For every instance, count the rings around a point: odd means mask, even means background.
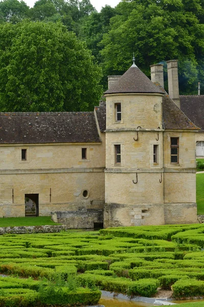
[[[123,0],[116,11],[100,42],[104,75],[123,73],[133,52],[146,74],[150,64],[179,59],[181,93],[196,93],[203,80],[203,1]]]

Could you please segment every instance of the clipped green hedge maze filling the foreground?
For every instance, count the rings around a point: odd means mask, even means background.
[[[0,307],[96,304],[99,290],[204,296],[202,224],[8,234],[0,248]]]

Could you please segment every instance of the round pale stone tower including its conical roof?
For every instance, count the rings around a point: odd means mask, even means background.
[[[164,224],[163,95],[135,63],[105,92],[105,227]]]

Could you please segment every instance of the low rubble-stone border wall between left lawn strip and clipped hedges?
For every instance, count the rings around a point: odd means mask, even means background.
[[[60,232],[69,229],[64,225],[45,225],[45,226],[13,226],[0,227],[0,235],[5,233],[40,233],[40,232]]]

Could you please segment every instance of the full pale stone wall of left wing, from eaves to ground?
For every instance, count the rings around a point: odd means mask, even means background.
[[[83,147],[87,159],[82,159]],[[22,148],[27,149],[25,161]],[[104,208],[105,142],[1,144],[0,154],[0,217],[25,216],[25,194],[38,194],[40,216]]]

